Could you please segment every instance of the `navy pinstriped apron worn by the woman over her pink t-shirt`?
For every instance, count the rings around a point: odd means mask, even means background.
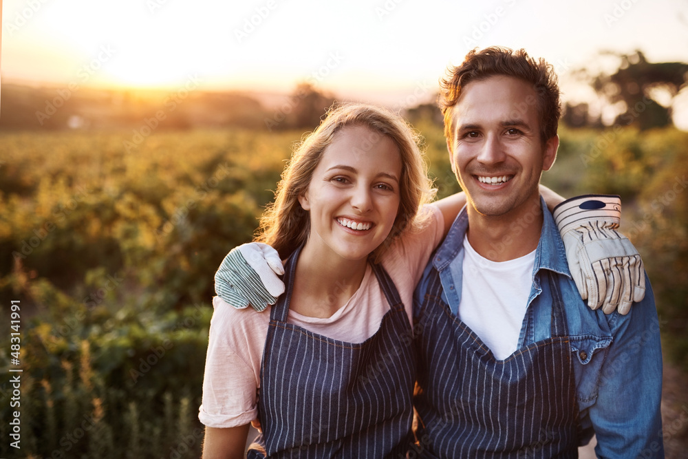
[[[250,449],[247,457],[406,457],[416,360],[394,283],[372,264],[390,305],[372,337],[363,343],[323,337],[287,323],[299,251],[286,265],[286,295],[270,312],[258,403],[257,442],[264,450]]]

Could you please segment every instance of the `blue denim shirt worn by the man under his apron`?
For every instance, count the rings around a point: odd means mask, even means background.
[[[574,356],[581,445],[597,438],[601,458],[663,458],[660,403],[662,350],[654,295],[645,275],[645,298],[626,315],[591,310],[573,281],[557,226],[544,201],[544,223],[535,251],[533,285],[518,348],[550,337],[552,299],[541,288],[541,270],[559,282]],[[416,305],[424,298],[431,268],[442,283],[442,299],[458,314],[461,299],[463,240],[468,229],[464,208],[433,255],[416,288]],[[545,279],[542,277],[542,279]],[[418,310],[419,308],[414,308]],[[422,359],[422,356],[420,356]],[[441,383],[441,381],[438,381]],[[457,438],[457,441],[460,441]]]

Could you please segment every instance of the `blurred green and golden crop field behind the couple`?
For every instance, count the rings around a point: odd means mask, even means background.
[[[458,191],[441,128],[417,127],[440,197]],[[11,366],[19,301],[23,455],[199,456],[213,275],[252,237],[301,134],[0,133],[0,371]],[[622,196],[622,231],[652,279],[665,356],[688,370],[688,133],[560,135],[544,183],[566,196]],[[3,440],[0,455],[12,453]]]

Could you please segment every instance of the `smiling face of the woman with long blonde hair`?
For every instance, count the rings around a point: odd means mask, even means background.
[[[401,155],[391,138],[361,126],[338,131],[299,197],[310,212],[311,249],[365,259],[394,225],[400,179]]]

